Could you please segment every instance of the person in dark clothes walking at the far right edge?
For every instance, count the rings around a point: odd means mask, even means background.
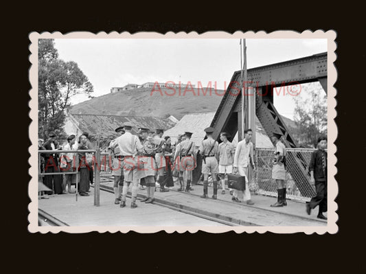
[[[311,209],[314,209],[319,205],[318,218],[327,220],[327,217],[323,215],[323,212],[328,210],[328,192],[327,192],[327,138],[319,137],[318,139],[318,150],[312,152],[310,160],[309,171],[310,171],[310,182],[315,184],[317,195],[311,198],[311,201],[306,204],[306,212],[310,215]]]

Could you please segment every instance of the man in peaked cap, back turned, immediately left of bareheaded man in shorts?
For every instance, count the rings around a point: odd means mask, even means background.
[[[212,198],[217,199],[217,174],[218,174],[218,159],[216,158],[216,154],[218,152],[218,142],[212,138],[212,133],[214,133],[214,128],[205,128],[205,133],[207,135],[207,139],[202,141],[200,146],[200,154],[203,157],[202,162],[202,174],[203,174],[203,195],[201,198],[207,198],[207,186],[208,186],[208,177],[209,173],[211,173],[212,181],[214,184],[214,195]]]

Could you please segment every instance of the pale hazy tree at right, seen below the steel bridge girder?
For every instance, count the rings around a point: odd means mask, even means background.
[[[305,86],[303,91],[308,98],[295,96],[295,123],[298,127],[299,144],[317,146],[317,139],[327,135],[327,100],[319,83]]]

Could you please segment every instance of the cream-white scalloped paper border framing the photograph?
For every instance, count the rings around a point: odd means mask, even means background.
[[[29,80],[32,88],[30,89],[30,118],[32,122],[29,127],[29,137],[31,140],[31,146],[29,148],[30,152],[30,176],[32,179],[28,186],[28,194],[30,196],[30,204],[28,209],[30,214],[28,215],[29,225],[28,230],[31,233],[41,232],[41,233],[58,233],[60,231],[65,231],[68,233],[87,233],[90,231],[98,231],[100,233],[104,232],[117,232],[121,231],[127,233],[128,231],[136,231],[139,233],[155,233],[158,231],[166,231],[167,233],[173,233],[177,231],[178,233],[184,233],[186,231],[190,233],[195,233],[197,231],[206,231],[209,233],[222,233],[226,231],[235,231],[236,233],[266,233],[267,231],[273,233],[297,233],[304,232],[306,234],[311,233],[336,233],[338,231],[338,225],[336,224],[338,220],[338,214],[336,210],[338,205],[335,202],[335,198],[338,195],[338,184],[334,178],[336,170],[336,146],[334,141],[338,135],[338,130],[335,124],[336,117],[336,89],[334,84],[337,78],[336,67],[334,66],[334,61],[336,60],[336,32],[334,30],[316,30],[312,32],[311,30],[305,30],[304,32],[295,32],[292,30],[279,30],[271,33],[266,33],[264,31],[260,32],[234,32],[229,34],[228,32],[205,32],[203,34],[198,34],[197,32],[166,32],[165,34],[160,34],[157,32],[137,32],[135,34],[130,34],[129,32],[98,32],[98,34],[93,34],[91,32],[69,32],[67,34],[62,34],[61,32],[32,32],[29,35],[30,38],[30,57],[31,62],[29,70]],[[39,227],[38,226],[38,39],[39,38],[325,38],[328,40],[328,223],[326,226],[319,227]],[[304,208],[305,213],[305,208]]]

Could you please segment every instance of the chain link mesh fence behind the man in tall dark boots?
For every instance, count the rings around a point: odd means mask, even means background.
[[[310,201],[315,194],[314,185],[310,185],[308,170],[314,149],[286,148],[286,185],[287,198],[298,201]],[[255,161],[257,172],[255,182],[258,194],[277,196],[277,185],[272,179],[272,165],[275,159],[274,148],[257,148]]]

